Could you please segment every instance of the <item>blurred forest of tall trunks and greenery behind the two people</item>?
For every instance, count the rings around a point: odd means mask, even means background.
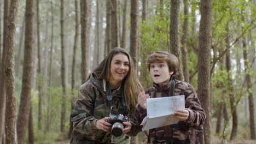
[[[206,110],[205,142],[256,143],[255,6],[255,0],[0,0],[0,143],[68,143],[78,88],[114,47],[131,53],[144,88],[153,82],[147,56],[176,55],[177,79],[195,87]]]

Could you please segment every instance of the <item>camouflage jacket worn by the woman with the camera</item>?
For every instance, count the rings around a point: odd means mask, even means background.
[[[107,100],[106,81],[98,79],[96,74],[92,74],[90,80],[84,83],[78,93],[78,100],[75,102],[70,120],[73,122],[71,143],[110,143],[111,133],[96,128],[96,121],[109,116],[110,106],[113,105],[112,112],[122,112],[124,116],[129,114],[127,107],[123,105],[123,87],[112,91],[112,101]],[[112,103],[112,104],[110,104]],[[130,113],[131,115],[132,113]],[[127,135],[136,135],[139,128],[135,121],[130,118],[132,129]],[[125,137],[129,139],[129,136]]]

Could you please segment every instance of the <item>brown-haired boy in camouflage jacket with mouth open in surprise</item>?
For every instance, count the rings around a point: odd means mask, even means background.
[[[148,143],[204,143],[202,124],[205,121],[205,111],[201,107],[193,86],[174,79],[178,65],[178,58],[165,51],[153,52],[148,57],[147,66],[154,83],[153,87],[138,95],[135,111],[138,124],[147,116],[147,98],[185,95],[185,110],[178,110],[174,115],[179,122],[150,129]]]

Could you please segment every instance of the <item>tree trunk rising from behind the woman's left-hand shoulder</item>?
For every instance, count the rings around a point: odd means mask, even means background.
[[[81,65],[81,76],[82,83],[86,82],[87,77],[87,1],[81,1],[81,49],[82,49],[82,65]]]

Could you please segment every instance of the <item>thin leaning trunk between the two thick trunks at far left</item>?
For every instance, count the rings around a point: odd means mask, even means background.
[[[21,65],[21,51],[22,51],[22,48],[24,46],[24,31],[25,31],[25,16],[23,18],[23,21],[22,21],[22,26],[21,26],[21,33],[20,33],[20,41],[19,41],[19,47],[18,47],[18,55],[16,57],[16,65],[15,65],[15,75],[17,77],[19,77],[19,74],[20,74],[20,65]]]

